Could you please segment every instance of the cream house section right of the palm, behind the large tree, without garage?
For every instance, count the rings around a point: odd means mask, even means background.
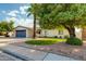
[[[82,39],[82,29],[75,29],[76,37]],[[66,29],[44,29],[38,37],[57,37],[57,38],[66,38],[70,37]]]

